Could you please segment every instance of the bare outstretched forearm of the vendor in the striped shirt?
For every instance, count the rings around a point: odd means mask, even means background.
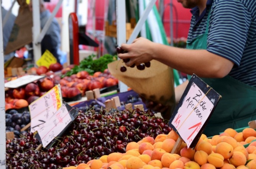
[[[196,74],[200,77],[221,78],[226,76],[233,63],[207,50],[190,50],[169,47],[155,43],[152,57],[168,66],[186,74]]]

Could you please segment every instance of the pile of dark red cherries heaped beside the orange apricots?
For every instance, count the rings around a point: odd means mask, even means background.
[[[94,105],[79,108],[80,114],[49,149],[36,150],[40,142],[31,132],[6,140],[7,169],[57,169],[77,166],[91,159],[124,153],[129,142],[168,134],[168,121],[139,109],[107,111]],[[94,109],[95,108],[95,109]]]

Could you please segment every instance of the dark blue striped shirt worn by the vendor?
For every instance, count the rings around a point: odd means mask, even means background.
[[[207,51],[235,63],[229,75],[256,87],[256,1],[208,0],[207,3],[209,2],[212,5],[208,4],[200,17],[193,13],[188,42],[204,34],[211,8]]]

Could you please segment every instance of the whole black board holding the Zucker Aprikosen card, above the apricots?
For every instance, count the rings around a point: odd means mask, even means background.
[[[196,75],[191,79],[178,103],[169,126],[188,147],[194,148],[221,96]]]

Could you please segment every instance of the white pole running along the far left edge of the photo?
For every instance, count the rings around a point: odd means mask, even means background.
[[[3,68],[3,28],[2,28],[2,9],[0,9],[0,169],[6,169],[6,147],[5,147],[5,73]],[[2,86],[2,87],[1,87]]]

